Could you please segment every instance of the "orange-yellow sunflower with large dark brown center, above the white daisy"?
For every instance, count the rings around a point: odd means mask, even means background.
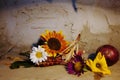
[[[56,57],[57,54],[67,47],[68,43],[64,40],[64,36],[61,32],[47,30],[46,33],[41,36],[46,41],[46,44],[42,47],[47,51],[50,57]]]

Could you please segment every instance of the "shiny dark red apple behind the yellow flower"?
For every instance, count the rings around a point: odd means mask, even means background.
[[[112,45],[103,45],[100,46],[96,53],[101,52],[106,59],[107,65],[112,66],[119,60],[119,52],[118,50],[113,47]]]

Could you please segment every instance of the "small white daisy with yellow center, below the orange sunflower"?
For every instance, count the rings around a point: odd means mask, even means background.
[[[33,47],[32,48],[32,53],[30,53],[30,59],[33,63],[38,64],[39,62],[47,60],[47,52],[45,52],[45,49],[42,48],[41,46]]]

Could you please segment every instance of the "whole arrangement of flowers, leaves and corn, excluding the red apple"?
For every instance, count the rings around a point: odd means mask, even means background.
[[[26,56],[24,61],[16,61],[10,68],[24,67],[46,67],[53,65],[64,65],[69,74],[80,76],[84,72],[95,73],[95,80],[100,80],[104,75],[111,74],[105,56],[101,52],[96,53],[94,58],[84,59],[85,50],[79,49],[80,34],[77,38],[68,42],[64,39],[62,32],[46,31],[40,35],[32,50],[21,53]],[[19,65],[18,65],[19,63]]]

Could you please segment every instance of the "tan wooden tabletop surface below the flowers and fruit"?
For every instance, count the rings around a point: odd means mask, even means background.
[[[110,67],[111,75],[103,77],[101,80],[119,80],[120,61]],[[8,66],[0,65],[0,80],[94,80],[92,72],[85,72],[81,76],[70,75],[64,66],[56,65],[50,67],[32,67],[9,69]]]

